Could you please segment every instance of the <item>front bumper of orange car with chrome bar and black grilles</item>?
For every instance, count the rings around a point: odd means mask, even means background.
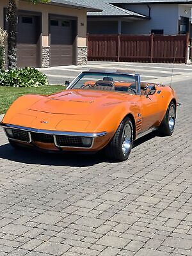
[[[0,123],[9,140],[51,150],[94,150],[107,132],[50,131]]]

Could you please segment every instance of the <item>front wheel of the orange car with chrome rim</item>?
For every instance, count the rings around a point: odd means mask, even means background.
[[[128,159],[132,148],[133,127],[130,118],[125,118],[105,148],[106,156],[115,161],[125,161]]]

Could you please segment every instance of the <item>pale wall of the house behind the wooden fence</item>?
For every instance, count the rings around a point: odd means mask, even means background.
[[[132,23],[122,22],[124,34],[150,34],[151,29],[164,29],[164,35],[178,33],[178,4],[149,4],[150,20],[138,20]],[[124,4],[127,10],[148,16],[147,4]]]

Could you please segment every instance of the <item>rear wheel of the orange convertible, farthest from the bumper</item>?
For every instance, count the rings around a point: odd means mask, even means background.
[[[159,126],[160,134],[164,136],[170,136],[173,134],[175,128],[175,120],[176,120],[176,106],[175,103],[172,101],[168,106],[166,114]]]

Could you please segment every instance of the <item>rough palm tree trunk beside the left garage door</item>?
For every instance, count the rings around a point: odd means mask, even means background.
[[[9,0],[7,7],[8,20],[8,68],[17,67],[17,2],[19,0]],[[49,0],[28,0],[30,3],[47,3]]]

